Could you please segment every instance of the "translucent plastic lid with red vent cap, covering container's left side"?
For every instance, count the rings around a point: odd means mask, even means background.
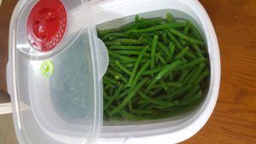
[[[9,93],[20,143],[93,143],[108,52],[86,1],[20,1],[10,28]]]

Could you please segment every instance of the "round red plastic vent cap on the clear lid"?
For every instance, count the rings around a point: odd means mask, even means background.
[[[67,27],[67,12],[60,0],[39,0],[26,24],[29,43],[40,51],[54,49]]]

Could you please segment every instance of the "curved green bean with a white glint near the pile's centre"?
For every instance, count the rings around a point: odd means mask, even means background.
[[[162,78],[163,76],[166,75],[166,73],[171,72],[173,69],[177,68],[177,66],[180,66],[182,63],[181,60],[176,60],[173,61],[172,64],[166,66],[162,71],[160,71],[155,77],[154,79],[150,82],[150,84],[148,84],[148,87],[146,89],[146,93],[148,93],[148,91],[154,86],[154,84],[156,82],[159,81],[160,78]]]

